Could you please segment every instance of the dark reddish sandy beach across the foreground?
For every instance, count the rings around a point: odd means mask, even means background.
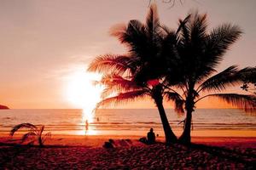
[[[195,137],[187,147],[161,138],[146,145],[138,136],[55,135],[44,148],[15,139],[0,139],[1,169],[253,169],[256,161],[256,138]],[[108,139],[113,149],[102,147]]]

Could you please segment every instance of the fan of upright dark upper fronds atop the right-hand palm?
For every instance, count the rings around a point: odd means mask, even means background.
[[[238,26],[225,24],[207,33],[207,15],[192,13],[189,20],[182,23],[177,42],[184,74],[190,81],[201,83],[215,72],[217,65],[230,45],[241,36]]]

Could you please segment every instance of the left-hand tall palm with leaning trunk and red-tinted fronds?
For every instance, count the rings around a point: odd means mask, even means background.
[[[94,59],[89,71],[99,71],[105,75],[100,83],[105,85],[102,101],[97,107],[150,96],[160,113],[166,135],[166,144],[177,141],[168,122],[163,99],[171,95],[162,81],[166,71],[162,44],[166,41],[166,31],[160,26],[156,6],[150,6],[146,23],[131,20],[127,26],[119,26],[112,35],[126,45],[125,55],[105,54]],[[176,94],[175,94],[176,95]]]

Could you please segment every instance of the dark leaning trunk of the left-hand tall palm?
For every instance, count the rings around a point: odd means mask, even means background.
[[[166,111],[164,109],[164,106],[160,100],[155,99],[156,106],[158,108],[160,119],[164,128],[164,132],[166,135],[166,144],[173,144],[177,142],[176,135],[172,132],[172,128],[168,122]]]

